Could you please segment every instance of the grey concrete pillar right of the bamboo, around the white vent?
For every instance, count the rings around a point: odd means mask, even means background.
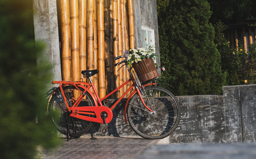
[[[135,0],[133,1],[134,10],[134,33],[135,47],[141,48],[141,25],[154,29],[156,54],[160,57],[157,21],[157,1],[156,0]],[[157,58],[160,66],[160,58]]]

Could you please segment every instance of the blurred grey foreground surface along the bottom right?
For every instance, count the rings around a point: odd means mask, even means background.
[[[256,158],[256,144],[171,144],[152,145],[139,158]]]

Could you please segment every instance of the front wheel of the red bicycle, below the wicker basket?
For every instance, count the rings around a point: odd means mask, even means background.
[[[180,106],[176,97],[167,89],[159,86],[142,88],[145,104],[136,93],[127,106],[127,118],[133,130],[146,139],[162,139],[177,128],[180,121]]]

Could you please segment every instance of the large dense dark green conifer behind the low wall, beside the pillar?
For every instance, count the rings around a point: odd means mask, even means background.
[[[162,86],[175,95],[220,94],[225,84],[206,0],[159,0]]]

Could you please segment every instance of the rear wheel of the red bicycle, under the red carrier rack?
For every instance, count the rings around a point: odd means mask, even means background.
[[[84,90],[81,87],[78,88],[81,91]],[[63,92],[68,101],[69,107],[71,107],[72,104],[76,101],[74,95],[81,95],[81,92],[74,85],[63,87]],[[86,97],[84,98],[86,100],[82,100],[78,106],[95,106],[94,101],[92,100],[92,97],[88,92],[86,92],[84,97]],[[79,138],[80,135],[88,131],[92,126],[92,122],[69,117],[68,112],[66,112],[67,106],[62,97],[60,88],[58,88],[53,94],[49,102],[48,108],[54,126],[62,134],[68,134],[67,124],[69,124],[70,137],[74,138]]]

